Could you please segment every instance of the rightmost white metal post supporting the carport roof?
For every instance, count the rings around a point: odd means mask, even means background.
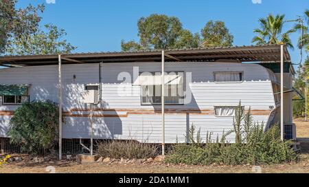
[[[280,61],[280,129],[281,140],[284,140],[284,45],[280,46],[281,61]]]

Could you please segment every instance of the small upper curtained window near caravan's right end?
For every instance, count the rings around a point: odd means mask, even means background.
[[[242,78],[242,72],[214,72],[215,82],[240,82]]]

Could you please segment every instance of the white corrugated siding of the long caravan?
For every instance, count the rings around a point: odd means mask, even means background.
[[[133,80],[133,67],[139,67],[139,72],[160,72],[160,63],[108,63],[102,65],[102,104],[104,109],[161,109],[161,106],[141,105],[140,87],[130,84],[120,84],[117,80],[120,72],[128,72]],[[184,105],[168,105],[167,109],[214,109],[215,105],[236,105],[239,100],[251,109],[268,110],[274,105],[271,81],[264,67],[240,63],[166,63],[167,72],[192,72],[192,100]],[[213,72],[243,71],[242,83],[214,83]],[[16,76],[12,76],[12,74]],[[73,76],[76,76],[74,79]],[[31,84],[30,99],[49,99],[58,101],[58,67],[38,66],[0,69],[0,84]],[[99,65],[63,65],[63,108],[65,111],[87,107],[82,101],[84,85],[99,83]],[[119,87],[120,86],[120,87]],[[129,94],[124,94],[124,88]],[[118,93],[122,95],[119,96]],[[0,110],[14,110],[16,106],[2,106]],[[76,113],[85,113],[78,111]],[[103,113],[98,111],[96,113]],[[104,111],[108,113],[108,111]],[[109,111],[109,113],[115,113]],[[118,114],[126,111],[118,112]],[[254,115],[255,120],[265,122],[267,115]],[[9,119],[2,116],[0,121],[3,136],[7,131]],[[202,138],[207,131],[214,132],[214,138],[219,137],[223,130],[232,128],[232,118],[219,118],[214,115],[196,115],[167,113],[165,115],[165,142],[185,141],[185,135],[190,125],[201,129]],[[160,114],[128,114],[127,117],[94,118],[95,138],[135,139],[141,142],[161,142]],[[63,126],[64,138],[89,138],[89,118],[67,117]],[[229,140],[232,140],[229,137]]]

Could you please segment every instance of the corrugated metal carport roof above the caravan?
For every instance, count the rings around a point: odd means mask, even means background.
[[[181,61],[218,61],[220,59],[240,62],[278,62],[280,45],[251,45],[233,47],[209,47],[183,50],[165,50],[165,54]],[[62,54],[62,57],[73,61],[62,63],[124,63],[124,62],[157,62],[161,61],[161,50],[139,52],[95,52]],[[168,56],[165,61],[175,61]],[[284,45],[284,61],[290,62],[290,54]],[[0,65],[54,65],[58,64],[58,55],[1,56]]]

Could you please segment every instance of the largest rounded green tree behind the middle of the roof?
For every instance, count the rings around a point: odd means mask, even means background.
[[[151,14],[137,22],[139,42],[122,41],[122,51],[166,50],[198,47],[198,34],[184,30],[176,17]]]

